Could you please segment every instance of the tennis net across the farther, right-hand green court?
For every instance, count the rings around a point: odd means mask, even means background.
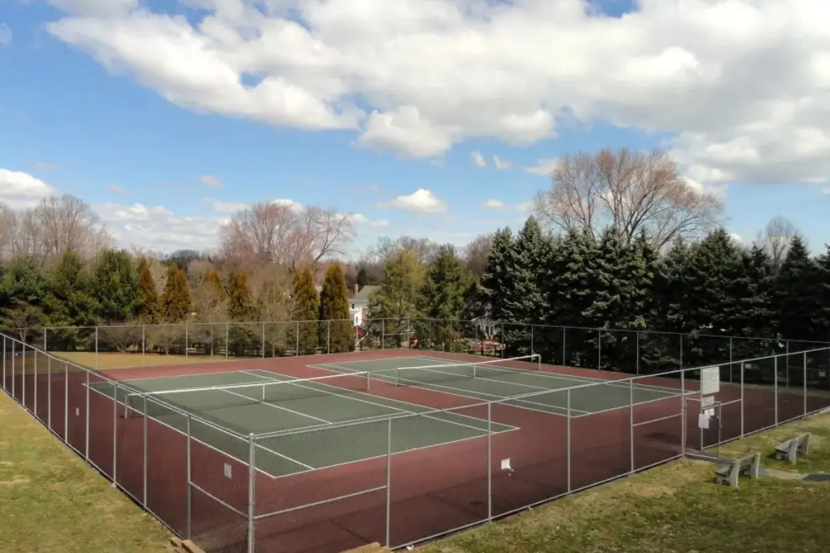
[[[442,382],[463,381],[469,378],[494,378],[516,372],[540,371],[541,356],[533,353],[507,359],[442,363],[440,365],[402,366],[391,371],[375,371],[373,378],[393,381],[395,386],[418,386]],[[378,372],[383,372],[383,376]]]

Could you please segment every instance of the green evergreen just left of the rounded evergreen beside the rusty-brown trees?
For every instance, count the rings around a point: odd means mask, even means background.
[[[47,313],[49,347],[75,349],[78,329],[95,326],[95,301],[92,298],[90,274],[83,260],[74,252],[66,252],[46,275],[43,299]]]

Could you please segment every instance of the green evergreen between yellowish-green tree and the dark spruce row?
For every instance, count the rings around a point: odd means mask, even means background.
[[[432,319],[420,324],[418,338],[447,352],[461,332],[461,313],[471,279],[452,245],[442,245],[430,264],[419,298],[419,313]],[[428,327],[425,327],[427,326]]]

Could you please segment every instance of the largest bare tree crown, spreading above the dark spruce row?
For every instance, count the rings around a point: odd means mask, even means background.
[[[660,150],[565,155],[550,178],[551,186],[537,194],[534,207],[554,230],[588,229],[598,235],[616,226],[626,240],[645,231],[662,248],[676,238],[693,239],[721,222],[722,202],[691,187]]]

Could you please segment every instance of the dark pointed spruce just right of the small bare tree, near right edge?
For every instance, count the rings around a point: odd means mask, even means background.
[[[789,251],[774,279],[774,308],[778,332],[793,340],[821,339],[822,329],[813,323],[820,318],[822,307],[822,274],[818,264],[808,255],[799,236],[790,242]]]

